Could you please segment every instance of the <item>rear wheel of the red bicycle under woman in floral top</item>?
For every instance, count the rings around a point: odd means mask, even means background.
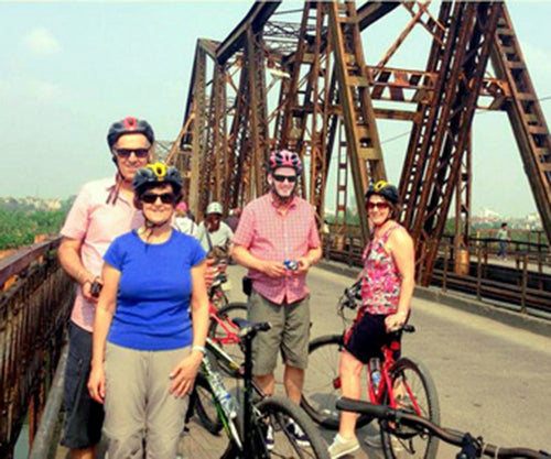
[[[390,374],[395,397],[400,398],[399,407],[440,424],[436,386],[424,364],[401,358],[395,363]],[[380,427],[382,451],[387,459],[436,457],[437,438],[426,431],[389,422],[381,422]]]

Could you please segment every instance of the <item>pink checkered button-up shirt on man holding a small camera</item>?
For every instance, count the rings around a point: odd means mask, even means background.
[[[245,207],[233,241],[260,260],[298,260],[320,247],[314,208],[294,197],[283,216],[268,193]],[[249,270],[248,275],[255,291],[276,304],[292,304],[309,294],[305,274],[273,278]]]

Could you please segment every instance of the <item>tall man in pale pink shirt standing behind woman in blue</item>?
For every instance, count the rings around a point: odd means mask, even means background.
[[[101,437],[104,409],[87,390],[97,302],[91,286],[100,283],[102,256],[111,241],[143,222],[133,205],[132,179],[152,156],[154,134],[147,121],[128,117],[111,125],[107,142],[116,176],[84,185],[61,231],[60,262],[77,282],[64,386],[62,445],[69,448],[69,459],[93,459]]]

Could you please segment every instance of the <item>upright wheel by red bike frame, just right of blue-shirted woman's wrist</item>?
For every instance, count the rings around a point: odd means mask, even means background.
[[[223,308],[220,308],[217,314],[218,318],[223,321],[231,320],[235,317],[247,318],[247,304],[241,302],[229,303]],[[230,332],[237,334],[237,328],[229,325]],[[228,331],[222,327],[215,318],[210,318],[210,324],[208,326],[208,337],[213,339],[218,346],[220,346],[224,351],[238,364],[241,364],[245,360],[245,354],[239,342],[223,343],[228,337]],[[228,367],[222,360],[217,360],[216,364],[229,375],[235,375],[235,371],[228,369]]]

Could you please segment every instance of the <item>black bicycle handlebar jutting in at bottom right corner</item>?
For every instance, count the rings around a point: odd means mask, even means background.
[[[530,458],[543,459],[551,455],[543,450],[529,448],[501,448],[484,441],[482,437],[474,437],[469,433],[462,433],[449,428],[442,428],[430,419],[418,416],[406,409],[395,409],[385,405],[376,405],[350,398],[337,401],[337,408],[347,412],[356,412],[379,420],[381,431],[390,434],[391,439],[400,438],[407,440],[410,436],[426,435],[436,436],[443,441],[461,448],[456,459],[476,459],[484,456],[505,458]],[[385,444],[382,445],[385,448]],[[388,448],[388,445],[387,445]]]

